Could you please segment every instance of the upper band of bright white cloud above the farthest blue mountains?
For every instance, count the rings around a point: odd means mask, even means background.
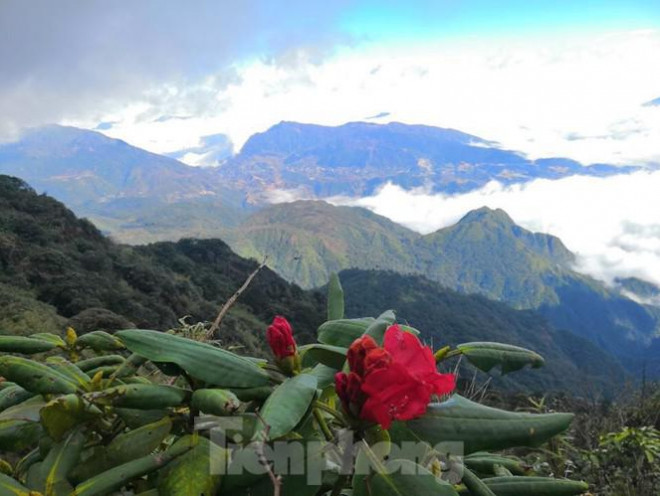
[[[337,125],[387,113],[385,121],[451,127],[534,158],[660,162],[660,107],[642,106],[660,96],[658,53],[660,31],[653,30],[357,45],[322,61],[302,51],[295,64],[243,61],[218,87],[180,86],[146,103],[157,115],[206,102],[211,110],[190,119],[104,120],[120,121],[108,131],[114,137],[171,152],[214,133],[228,134],[239,149],[281,120]]]

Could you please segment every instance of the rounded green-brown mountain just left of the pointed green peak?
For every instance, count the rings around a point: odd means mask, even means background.
[[[268,257],[286,279],[311,288],[348,267],[410,272],[419,235],[369,210],[322,201],[273,205],[226,233],[246,257]]]

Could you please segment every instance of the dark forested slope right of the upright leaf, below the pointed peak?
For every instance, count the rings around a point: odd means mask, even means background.
[[[383,308],[411,326],[436,347],[469,341],[499,341],[528,347],[543,355],[546,365],[524,374],[497,377],[496,387],[547,393],[560,390],[579,395],[612,394],[627,379],[619,362],[587,339],[553,329],[539,314],[476,295],[443,288],[422,276],[357,269],[340,273],[346,312],[350,317],[378,314]],[[472,372],[462,374],[467,380]],[[576,380],[576,378],[579,378]],[[479,374],[484,381],[485,374]]]

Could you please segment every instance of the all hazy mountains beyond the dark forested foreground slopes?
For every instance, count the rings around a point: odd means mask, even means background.
[[[574,255],[559,239],[517,226],[504,211],[475,210],[422,236],[364,209],[264,201],[282,190],[360,196],[388,181],[457,192],[494,179],[511,184],[633,170],[532,162],[458,131],[396,123],[281,123],[210,169],[59,126],[0,146],[0,172],[47,191],[115,239],[221,238],[242,256],[267,256],[271,268],[305,288],[352,267],[423,275],[461,293],[535,309],[626,360],[643,357],[657,335],[652,286],[626,281],[613,289],[576,272]]]

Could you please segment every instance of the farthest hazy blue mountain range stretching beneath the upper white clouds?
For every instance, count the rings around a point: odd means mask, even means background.
[[[0,144],[0,174],[28,181],[116,239],[140,244],[220,237],[281,190],[298,197],[362,196],[390,182],[464,192],[639,167],[529,160],[453,129],[354,122],[282,122],[252,136],[219,167],[190,167],[94,131],[45,126]]]

